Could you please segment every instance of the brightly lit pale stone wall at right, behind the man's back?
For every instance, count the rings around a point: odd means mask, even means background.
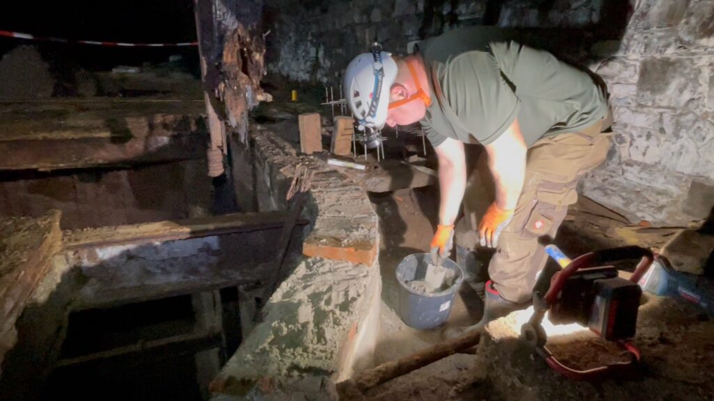
[[[583,193],[632,220],[684,225],[714,205],[714,1],[641,0],[609,56],[605,78],[615,146]]]

